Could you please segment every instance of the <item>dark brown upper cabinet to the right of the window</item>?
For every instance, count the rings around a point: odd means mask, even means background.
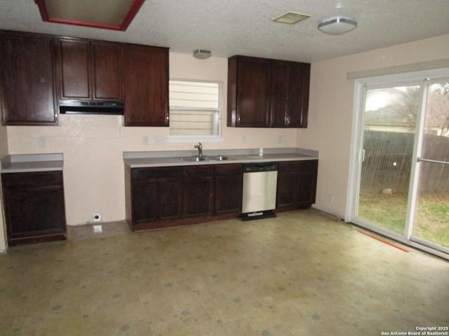
[[[228,59],[228,127],[307,127],[310,64]]]

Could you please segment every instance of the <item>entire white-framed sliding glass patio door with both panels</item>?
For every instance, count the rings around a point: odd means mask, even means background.
[[[449,78],[356,86],[345,220],[449,258]]]

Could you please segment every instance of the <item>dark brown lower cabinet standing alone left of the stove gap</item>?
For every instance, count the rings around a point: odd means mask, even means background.
[[[1,174],[8,245],[67,237],[62,172]]]

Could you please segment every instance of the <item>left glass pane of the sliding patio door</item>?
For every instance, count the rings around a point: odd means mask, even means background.
[[[400,234],[408,187],[419,86],[366,90],[357,217]]]

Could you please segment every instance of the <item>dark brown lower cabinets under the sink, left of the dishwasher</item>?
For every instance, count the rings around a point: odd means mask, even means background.
[[[242,165],[125,167],[126,221],[148,230],[237,218]]]

